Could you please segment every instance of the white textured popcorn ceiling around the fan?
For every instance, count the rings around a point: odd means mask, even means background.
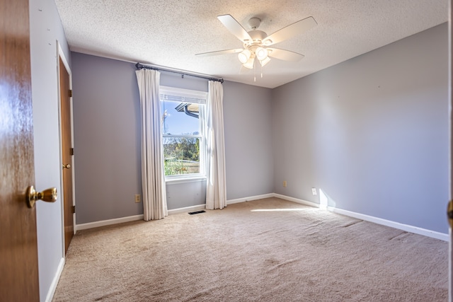
[[[166,66],[274,88],[448,21],[448,0],[55,0],[72,51]],[[195,57],[241,48],[217,16],[243,28],[258,16],[269,35],[313,16],[318,25],[278,43],[304,54],[300,62],[272,59],[240,74],[237,54]],[[420,58],[423,59],[423,58]],[[254,81],[253,74],[256,74]]]

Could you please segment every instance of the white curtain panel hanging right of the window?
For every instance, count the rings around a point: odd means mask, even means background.
[[[210,81],[206,104],[206,209],[226,207],[223,98],[222,83]]]

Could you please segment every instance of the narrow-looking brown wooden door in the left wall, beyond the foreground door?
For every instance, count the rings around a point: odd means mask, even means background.
[[[59,58],[59,91],[62,123],[62,162],[63,162],[63,204],[64,204],[64,252],[66,253],[74,235],[72,211],[72,139],[71,139],[71,99],[69,73]]]

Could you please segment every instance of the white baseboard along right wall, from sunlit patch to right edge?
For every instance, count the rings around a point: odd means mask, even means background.
[[[431,238],[436,238],[444,241],[449,241],[449,235],[445,233],[440,233],[436,231],[430,231],[426,228],[419,228],[418,226],[409,226],[408,224],[398,223],[395,221],[390,221],[382,218],[377,218],[374,216],[369,216],[365,214],[355,213],[353,211],[347,211],[343,209],[337,209],[334,207],[327,207],[328,211],[333,211],[334,213],[342,214],[345,216],[354,217],[357,219],[362,219],[365,221],[381,224],[382,226],[390,226],[391,228],[397,228],[401,231],[406,231],[410,233],[415,233],[418,235],[423,235]]]

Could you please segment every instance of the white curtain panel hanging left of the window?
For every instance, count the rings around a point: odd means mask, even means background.
[[[161,144],[160,72],[135,71],[142,116],[142,199],[143,219],[163,219],[168,215],[164,161]]]

